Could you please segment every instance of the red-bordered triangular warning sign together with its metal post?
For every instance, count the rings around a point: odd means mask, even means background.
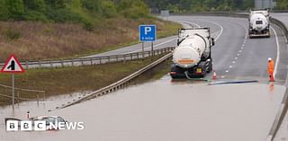
[[[24,73],[24,69],[19,63],[18,59],[11,55],[8,57],[5,65],[1,69],[1,73],[11,73],[12,74],[12,107],[14,110],[15,104],[15,73]]]

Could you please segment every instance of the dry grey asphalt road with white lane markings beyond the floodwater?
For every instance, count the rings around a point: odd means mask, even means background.
[[[190,23],[197,27],[211,27],[212,37],[216,38],[216,45],[212,48],[214,69],[223,79],[257,79],[267,84],[267,58],[275,60],[275,78],[277,83],[284,84],[287,75],[288,52],[283,32],[272,25],[272,36],[269,39],[248,39],[247,19],[209,16],[170,16],[171,21]],[[186,26],[188,27],[188,26]],[[175,46],[175,36],[155,42],[155,48]],[[151,49],[150,43],[145,49]],[[120,48],[98,54],[106,56],[140,51],[141,44],[127,48]],[[210,78],[208,75],[207,78]]]

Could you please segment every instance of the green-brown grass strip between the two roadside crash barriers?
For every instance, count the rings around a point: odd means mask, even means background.
[[[24,74],[15,75],[15,87],[44,90],[46,97],[82,91],[95,91],[121,80],[121,78],[147,66],[159,57],[162,56],[148,57],[143,61],[134,60],[126,63],[121,62],[97,66],[29,69]],[[159,78],[159,76],[166,74],[167,71],[166,66],[157,66],[151,71],[153,73],[149,71],[148,74],[139,76],[139,81],[143,82],[144,80]],[[11,75],[0,74],[0,82],[1,84],[11,85]],[[11,91],[10,89],[1,88],[0,93],[10,95]],[[20,92],[20,97],[35,99],[36,95],[35,93]],[[0,97],[0,105],[9,103],[11,103],[11,99]]]

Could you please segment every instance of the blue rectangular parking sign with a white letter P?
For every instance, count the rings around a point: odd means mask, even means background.
[[[155,41],[156,40],[156,25],[139,25],[139,40],[140,41]]]

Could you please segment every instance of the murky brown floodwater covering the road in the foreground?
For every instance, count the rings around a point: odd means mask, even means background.
[[[58,115],[85,122],[85,129],[6,132],[1,121],[0,140],[263,141],[284,91],[276,84],[172,83],[166,75],[61,110],[47,111],[60,102],[39,108],[34,103],[20,104],[14,111],[16,118],[23,119],[31,110],[31,116]],[[0,119],[11,115],[11,107],[0,109]]]

